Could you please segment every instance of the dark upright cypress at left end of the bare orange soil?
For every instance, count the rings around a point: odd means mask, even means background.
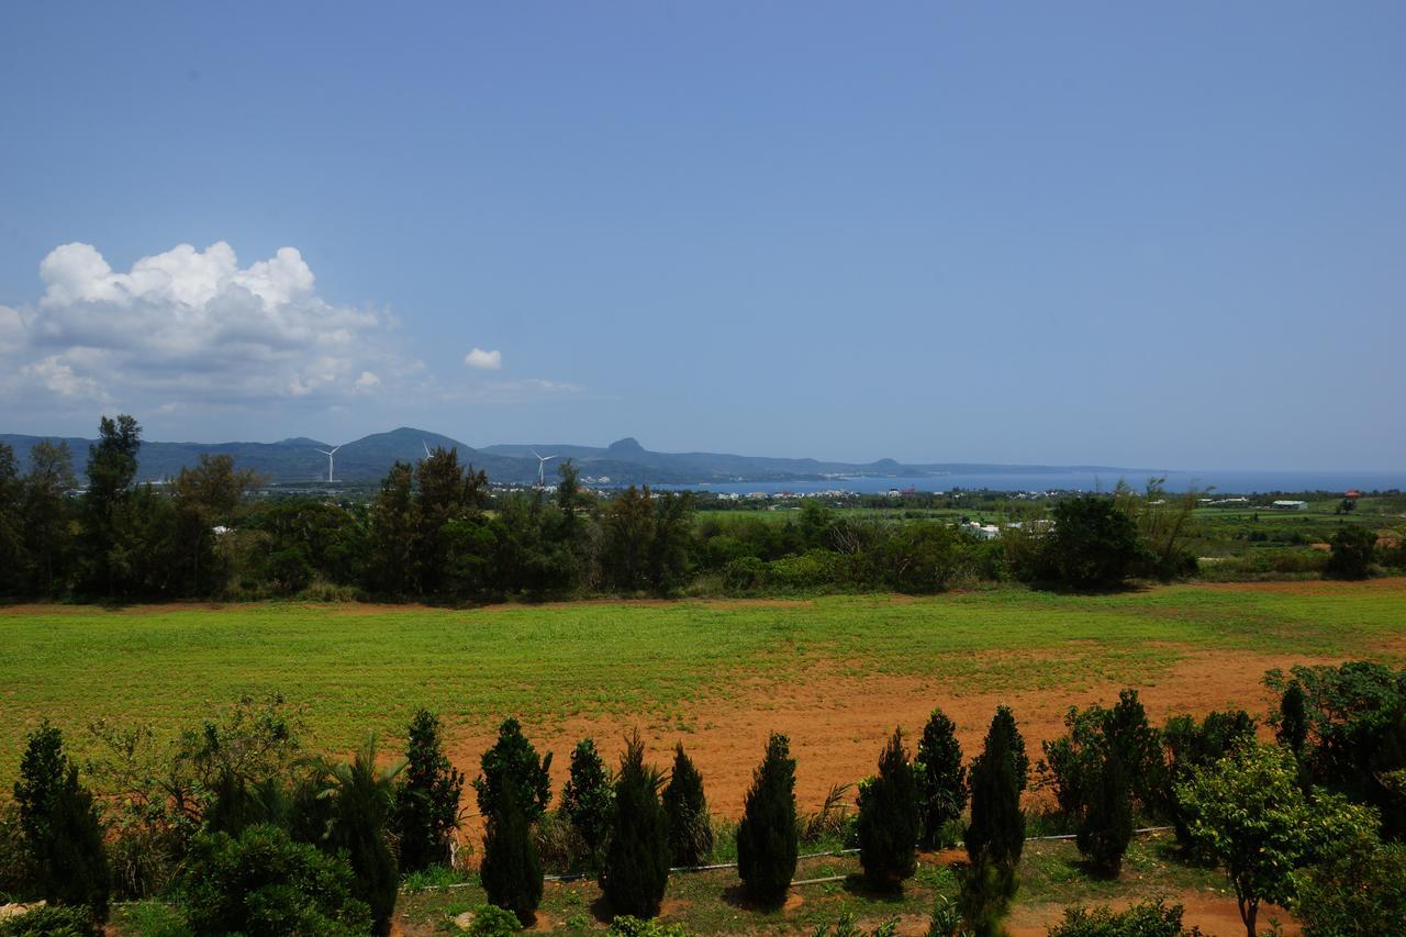
[[[439,716],[420,709],[411,720],[406,764],[395,789],[394,826],[401,843],[401,869],[413,872],[449,858],[458,829],[464,775],[444,754]]]

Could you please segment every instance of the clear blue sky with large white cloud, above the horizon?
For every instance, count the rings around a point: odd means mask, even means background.
[[[0,431],[1406,461],[1406,6],[0,6]]]

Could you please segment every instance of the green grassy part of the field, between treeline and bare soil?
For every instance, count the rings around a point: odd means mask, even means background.
[[[44,718],[82,747],[98,716],[169,732],[243,692],[305,703],[312,741],[346,751],[373,729],[398,736],[420,705],[486,727],[509,713],[668,718],[735,692],[742,677],[879,671],[979,689],[1142,682],[1189,649],[1368,654],[1403,626],[1400,580],[1303,595],[1182,585],[478,611],[17,609],[0,613],[0,781]]]

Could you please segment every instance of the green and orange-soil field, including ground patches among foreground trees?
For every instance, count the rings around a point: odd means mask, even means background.
[[[1263,713],[1267,667],[1406,660],[1406,580],[474,611],[21,606],[0,609],[0,789],[44,718],[82,756],[84,727],[100,716],[173,733],[240,694],[281,692],[307,708],[308,741],[332,753],[368,730],[394,751],[416,706],[437,709],[451,757],[471,775],[498,720],[519,715],[557,754],[557,785],[582,734],[609,751],[620,732],[643,726],[659,764],[683,740],[713,812],[735,817],[770,729],[792,734],[804,812],[831,784],[870,774],[891,726],[917,732],[934,705],[956,719],[969,754],[997,702],[1015,708],[1032,756],[1062,730],[1069,705],[1107,701],[1122,685],[1142,688],[1154,720],[1223,705]],[[471,826],[471,848],[475,840]],[[785,910],[765,913],[738,902],[733,871],[676,875],[665,917],[696,933],[813,933],[853,914],[922,934],[934,898],[955,893],[955,858],[924,857],[897,898],[844,879],[858,868],[852,855],[807,860],[799,878],[837,881],[799,885]],[[1175,861],[1164,839],[1135,846],[1115,882],[1090,878],[1069,843],[1033,843],[1021,878],[1011,919],[1021,937],[1043,934],[1069,903],[1152,896],[1185,903],[1187,923],[1206,933],[1239,930],[1219,874]],[[398,933],[453,931],[453,919],[482,900],[471,881],[405,895]],[[121,909],[117,933],[146,933],[141,914]],[[551,884],[540,927],[585,933],[605,917],[595,884]]]

